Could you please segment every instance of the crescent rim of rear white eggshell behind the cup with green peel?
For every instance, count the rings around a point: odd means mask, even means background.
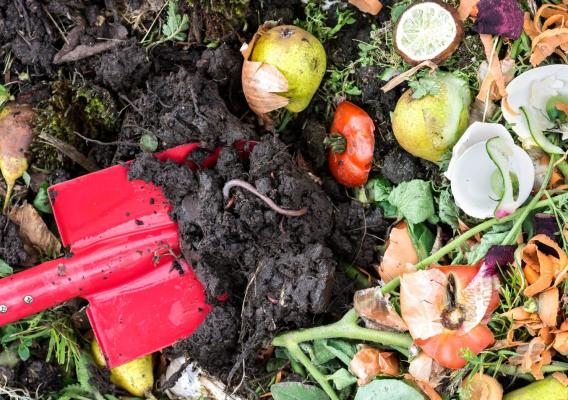
[[[467,149],[477,143],[486,142],[494,137],[502,137],[505,140],[510,141],[511,144],[514,143],[509,131],[501,124],[492,124],[487,122],[474,122],[471,124],[452,149],[452,159],[450,160],[448,170],[445,173],[446,177],[452,180],[452,174],[454,173],[456,162]]]

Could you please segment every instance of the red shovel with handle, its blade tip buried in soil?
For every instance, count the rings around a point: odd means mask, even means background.
[[[179,146],[157,157],[189,165],[185,160],[198,146]],[[112,368],[188,337],[203,322],[211,306],[178,257],[170,204],[159,188],[129,181],[127,174],[117,165],[49,188],[69,256],[0,280],[0,326],[85,298]]]

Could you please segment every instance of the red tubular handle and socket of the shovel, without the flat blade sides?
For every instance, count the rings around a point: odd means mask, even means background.
[[[156,268],[156,254],[164,256],[161,249],[177,253],[179,244],[175,224],[152,229],[97,243],[70,258],[0,279],[0,326],[75,297],[88,298]]]

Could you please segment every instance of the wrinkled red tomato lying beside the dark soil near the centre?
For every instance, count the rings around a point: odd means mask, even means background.
[[[375,149],[375,124],[369,114],[355,104],[344,101],[337,106],[331,134],[345,138],[346,149],[328,152],[328,165],[337,182],[347,187],[367,183]]]

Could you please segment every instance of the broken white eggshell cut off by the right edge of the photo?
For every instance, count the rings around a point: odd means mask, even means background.
[[[501,106],[505,120],[523,144],[534,145],[528,126],[520,114],[519,107],[526,107],[532,117],[533,123],[541,129],[552,127],[552,123],[545,114],[545,105],[552,96],[568,96],[568,65],[546,65],[528,70],[517,76],[507,85],[507,101],[512,111]]]

